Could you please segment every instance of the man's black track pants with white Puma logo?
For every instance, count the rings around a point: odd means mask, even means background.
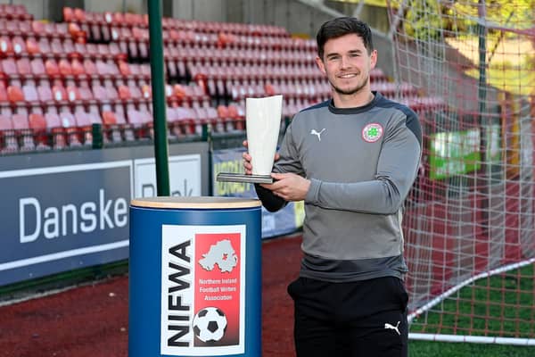
[[[407,357],[408,295],[399,278],[298,278],[288,293],[297,357]]]

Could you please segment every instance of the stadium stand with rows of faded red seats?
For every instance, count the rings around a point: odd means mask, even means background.
[[[281,27],[164,18],[169,137],[244,129],[245,97],[284,95],[284,118],[324,101],[313,40]],[[64,7],[63,21],[37,21],[23,5],[0,6],[0,152],[106,145],[152,137],[146,15]],[[436,105],[414,87],[372,72],[372,86],[416,110]],[[17,122],[9,125],[9,122]],[[30,124],[29,124],[30,123]]]

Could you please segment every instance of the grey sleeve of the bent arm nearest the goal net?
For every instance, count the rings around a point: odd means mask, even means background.
[[[350,212],[397,212],[416,179],[422,151],[421,135],[417,117],[399,120],[384,138],[374,180],[335,183],[311,179],[305,202]]]

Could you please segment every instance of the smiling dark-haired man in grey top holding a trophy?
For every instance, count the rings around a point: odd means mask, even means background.
[[[295,115],[276,181],[256,186],[272,212],[305,202],[300,277],[288,286],[299,357],[407,356],[401,218],[422,134],[415,112],[371,91],[376,62],[366,23],[322,25],[317,66],[333,98]],[[254,158],[243,159],[251,174]]]

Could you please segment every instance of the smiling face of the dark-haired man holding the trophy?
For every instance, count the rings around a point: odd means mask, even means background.
[[[316,62],[335,95],[355,95],[363,88],[369,90],[370,71],[377,62],[377,52],[368,54],[362,38],[349,34],[325,42],[323,58],[317,57]]]

